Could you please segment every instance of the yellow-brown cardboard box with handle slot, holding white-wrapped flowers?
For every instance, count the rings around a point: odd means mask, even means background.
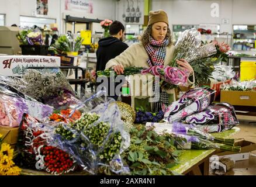
[[[255,91],[220,91],[220,102],[238,106],[256,106]]]

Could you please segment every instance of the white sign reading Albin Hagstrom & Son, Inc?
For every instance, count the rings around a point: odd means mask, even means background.
[[[21,77],[27,67],[59,67],[60,57],[0,56],[0,75]]]

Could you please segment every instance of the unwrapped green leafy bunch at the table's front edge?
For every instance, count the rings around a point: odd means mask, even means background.
[[[132,175],[173,175],[171,170],[178,163],[179,151],[174,141],[137,125],[130,130],[131,143],[122,153]]]

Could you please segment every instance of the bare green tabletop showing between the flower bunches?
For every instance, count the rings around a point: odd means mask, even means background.
[[[231,130],[222,131],[220,133],[212,133],[215,137],[230,138],[236,134],[240,129],[238,127],[233,127]],[[210,154],[215,152],[215,150],[182,150],[181,156],[179,157],[179,164],[172,167],[172,171],[178,174],[183,174],[185,171],[193,167]]]

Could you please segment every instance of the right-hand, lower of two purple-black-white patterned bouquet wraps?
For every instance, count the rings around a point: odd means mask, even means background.
[[[239,123],[234,107],[229,103],[215,103],[203,112],[187,116],[185,122],[194,124],[197,129],[211,133],[229,130]]]

